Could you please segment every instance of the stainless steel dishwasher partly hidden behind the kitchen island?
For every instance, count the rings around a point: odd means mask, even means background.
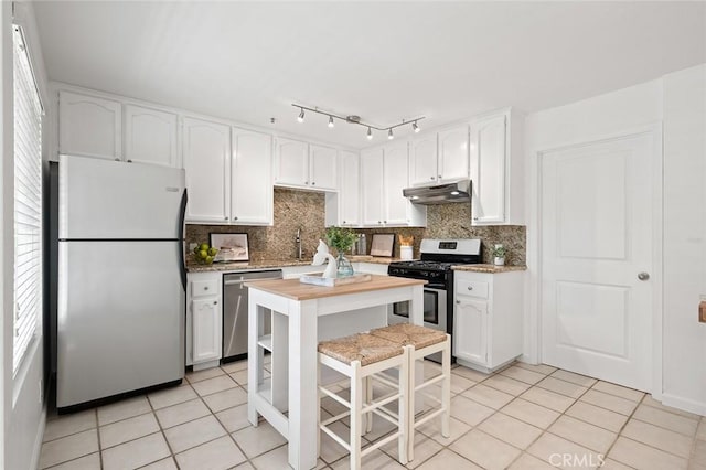
[[[281,269],[233,273],[223,275],[223,360],[236,361],[247,356],[247,287],[245,282],[281,279]],[[271,314],[265,316],[265,331],[270,330]]]

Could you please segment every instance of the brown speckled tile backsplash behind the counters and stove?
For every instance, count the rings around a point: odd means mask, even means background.
[[[186,242],[208,242],[210,233],[246,233],[250,245],[252,260],[287,260],[296,257],[295,238],[301,228],[303,256],[311,258],[319,238],[325,233],[324,193],[275,189],[275,224],[271,227],[188,225]],[[526,227],[524,225],[471,226],[470,204],[430,205],[427,209],[426,228],[361,228],[366,234],[367,249],[373,234],[394,233],[415,237],[415,257],[419,256],[421,238],[481,238],[483,261],[492,263],[490,249],[502,243],[507,248],[505,264],[524,265]],[[395,256],[399,256],[399,243],[395,241]]]

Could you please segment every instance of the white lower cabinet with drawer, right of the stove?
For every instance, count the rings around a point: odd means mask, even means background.
[[[456,271],[453,356],[481,372],[522,354],[524,271]]]

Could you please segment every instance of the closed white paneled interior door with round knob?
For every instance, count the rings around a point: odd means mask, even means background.
[[[542,158],[543,362],[642,391],[652,371],[653,140]]]

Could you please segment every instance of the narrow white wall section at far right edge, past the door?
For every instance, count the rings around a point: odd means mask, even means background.
[[[706,415],[706,64],[664,77],[666,404]]]

